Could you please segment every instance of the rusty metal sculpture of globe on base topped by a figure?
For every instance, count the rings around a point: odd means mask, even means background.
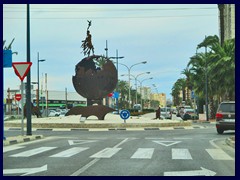
[[[95,115],[98,119],[104,119],[105,115],[114,109],[103,106],[103,98],[115,89],[117,85],[117,69],[108,58],[94,55],[94,48],[91,42],[88,21],[87,37],[82,44],[84,55],[75,67],[75,76],[72,82],[75,90],[81,96],[87,98],[88,107],[74,107],[66,115],[82,114],[82,117]],[[90,56],[90,53],[93,55]],[[97,104],[92,106],[93,104]]]

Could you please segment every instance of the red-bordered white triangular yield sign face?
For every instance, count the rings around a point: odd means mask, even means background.
[[[21,81],[23,81],[24,78],[27,76],[27,73],[30,70],[31,65],[32,65],[32,62],[12,63],[15,73],[20,78]]]

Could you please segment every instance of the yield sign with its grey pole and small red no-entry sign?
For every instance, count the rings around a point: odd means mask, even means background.
[[[32,65],[32,62],[14,62],[12,63],[13,69],[16,73],[16,75],[19,77],[19,79],[21,80],[21,94],[20,96],[17,95],[17,97],[15,96],[16,100],[20,101],[22,99],[23,96],[23,80],[24,78],[27,76],[30,67]],[[21,107],[22,107],[22,136],[24,135],[24,108],[23,108],[23,99],[21,100]]]

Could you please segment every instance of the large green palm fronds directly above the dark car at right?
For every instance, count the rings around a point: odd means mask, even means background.
[[[220,44],[218,36],[208,36],[199,47],[210,48],[209,74],[216,81],[215,94],[222,100],[235,99],[235,39]]]

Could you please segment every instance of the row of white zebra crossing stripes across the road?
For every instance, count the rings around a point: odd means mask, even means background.
[[[15,148],[11,148],[8,151],[3,151],[3,153],[14,151],[14,150],[23,150],[25,147],[16,146]],[[51,150],[56,150],[58,147],[38,147],[30,150],[23,150],[20,153],[9,155],[9,157],[32,157],[38,154],[44,154],[45,152],[51,152]],[[82,152],[88,150],[89,147],[69,147],[65,150],[57,152],[56,154],[52,154],[50,158],[69,158],[72,156],[76,156],[81,154]],[[159,150],[159,149],[158,149]],[[204,150],[204,149],[203,149]],[[112,158],[117,153],[124,151],[123,148],[119,147],[107,147],[104,148],[92,155],[89,158]],[[137,148],[133,154],[128,155],[129,159],[152,159],[153,154],[155,152],[155,148]],[[222,149],[205,149],[204,152],[213,160],[234,160],[231,156],[229,156]],[[165,156],[164,154],[161,154]],[[186,148],[171,148],[171,158],[172,160],[193,160],[191,155],[191,150]]]

